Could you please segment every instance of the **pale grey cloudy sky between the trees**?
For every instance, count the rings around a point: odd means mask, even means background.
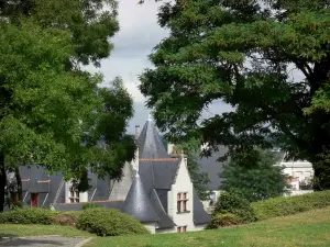
[[[123,79],[128,91],[134,99],[135,109],[134,117],[128,127],[129,133],[134,132],[136,124],[143,126],[150,113],[144,106],[145,99],[138,89],[138,76],[144,68],[152,66],[147,55],[168,34],[168,31],[157,25],[158,7],[160,3],[154,0],[146,0],[143,5],[138,4],[138,0],[120,0],[119,22],[121,29],[112,38],[114,49],[108,59],[102,60],[100,68],[88,68],[91,71],[101,71],[106,82],[111,81],[116,76]],[[221,104],[213,104],[205,115],[210,116],[223,109],[226,108]]]

